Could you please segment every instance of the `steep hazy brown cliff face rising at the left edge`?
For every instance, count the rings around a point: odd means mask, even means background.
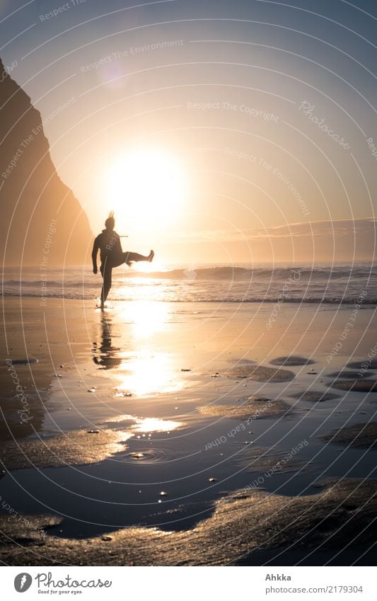
[[[0,59],[0,236],[5,265],[82,265],[88,217],[57,175],[40,113]]]

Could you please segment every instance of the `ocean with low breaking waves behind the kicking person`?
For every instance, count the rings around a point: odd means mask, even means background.
[[[149,265],[148,265],[149,268]],[[377,302],[377,266],[350,264],[282,263],[254,265],[170,265],[143,272],[116,268],[112,300],[161,302]],[[91,268],[7,268],[3,294],[24,297],[98,299],[100,275]]]

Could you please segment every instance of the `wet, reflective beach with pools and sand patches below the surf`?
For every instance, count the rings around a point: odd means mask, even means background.
[[[277,309],[4,297],[1,561],[372,565],[361,292]]]

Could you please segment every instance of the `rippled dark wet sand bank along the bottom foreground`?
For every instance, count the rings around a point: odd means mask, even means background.
[[[329,483],[310,497],[239,491],[222,498],[208,520],[185,532],[128,528],[108,537],[66,541],[35,533],[48,532],[56,522],[51,517],[28,518],[33,530],[9,526],[8,518],[0,559],[12,566],[286,565],[286,558],[298,565],[318,565],[318,559],[342,565],[344,549],[351,546],[356,564],[373,565],[376,517],[376,487],[362,481]]]

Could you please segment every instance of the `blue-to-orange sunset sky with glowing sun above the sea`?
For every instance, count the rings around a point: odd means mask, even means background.
[[[170,261],[368,258],[376,25],[362,0],[1,0],[0,56],[93,231],[115,210]]]

